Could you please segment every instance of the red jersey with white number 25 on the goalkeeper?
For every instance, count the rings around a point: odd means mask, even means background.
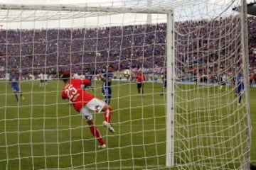
[[[61,93],[61,97],[73,103],[75,110],[78,112],[94,98],[94,96],[81,88],[81,84],[89,85],[90,79],[72,79],[65,84]]]

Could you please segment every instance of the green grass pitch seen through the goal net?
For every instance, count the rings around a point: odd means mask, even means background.
[[[90,130],[80,114],[68,105],[68,101],[63,101],[60,98],[62,86],[62,81],[48,81],[46,88],[39,87],[39,81],[21,81],[21,89],[26,99],[17,103],[9,82],[0,81],[1,169],[168,169],[165,168],[166,97],[159,95],[161,84],[146,83],[145,94],[141,96],[137,94],[134,82],[113,82],[113,97],[110,105],[114,109],[112,124],[116,132],[110,134],[102,126],[103,115],[94,114],[95,124],[107,142],[107,149],[102,150],[97,149],[97,141],[90,134]],[[95,92],[89,91],[97,98],[102,99],[100,81],[95,81],[94,86]],[[182,91],[184,86],[178,86]],[[186,88],[193,89],[193,86],[190,85]],[[215,93],[215,90],[217,89],[206,89],[208,95]],[[191,95],[195,95],[195,93],[191,91]],[[222,100],[225,103],[226,99],[222,98]],[[218,100],[213,98],[213,101]],[[193,105],[214,106],[214,102],[206,103],[203,100],[199,102],[188,102],[186,106],[191,109],[192,113]],[[255,103],[256,88],[251,88],[251,160],[256,163]],[[232,110],[232,107],[230,108]],[[181,107],[178,108],[178,111],[181,110]],[[198,113],[200,112],[195,115]],[[195,115],[193,118],[196,117]],[[189,116],[187,118],[196,123],[196,120]],[[178,123],[182,122],[180,119]],[[201,122],[205,121],[206,124],[209,120],[214,119],[201,117]],[[223,118],[223,123],[227,123],[227,121]],[[202,123],[202,125],[204,124]],[[180,124],[177,126],[180,127]],[[196,125],[194,126],[196,127]],[[191,130],[191,133],[208,134],[207,129],[206,132],[202,132],[203,128],[191,127],[191,129],[194,129]],[[217,131],[218,128],[213,128],[213,131],[215,130]],[[179,146],[185,150],[184,146],[193,145],[196,142],[201,145],[208,144],[207,140],[204,140],[203,137],[202,139],[200,141],[196,141],[198,138],[193,139],[195,141]],[[231,140],[234,145],[236,140],[239,142],[239,139],[236,138]],[[213,138],[213,141],[210,142],[214,145],[215,141],[218,139]],[[230,143],[222,145],[229,146]],[[176,151],[178,150],[177,148]],[[214,154],[207,152],[215,152],[215,154],[222,152],[218,149],[201,149],[201,151],[206,152],[201,153],[206,156]],[[196,152],[198,150],[191,151],[192,155],[190,155],[195,160],[200,159]],[[227,154],[227,157],[231,156],[230,153]],[[175,162],[182,164],[188,159],[188,155],[184,152],[183,157],[184,160],[175,159]],[[206,161],[210,164],[210,160]]]

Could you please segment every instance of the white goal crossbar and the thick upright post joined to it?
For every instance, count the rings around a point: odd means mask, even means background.
[[[22,4],[0,4],[1,10],[27,10],[27,11],[63,11],[63,12],[102,12],[118,14],[122,13],[148,13],[166,14],[166,69],[167,84],[166,101],[171,103],[166,105],[166,166],[173,167],[174,164],[174,103],[175,103],[175,28],[174,28],[174,9],[171,7],[145,6],[145,8],[129,8],[115,6],[74,6],[63,4],[50,5],[22,5]],[[54,20],[54,19],[53,19]],[[40,21],[40,20],[39,20]],[[12,21],[18,22],[18,21]]]

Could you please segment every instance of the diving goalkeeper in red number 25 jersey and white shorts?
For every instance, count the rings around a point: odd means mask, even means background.
[[[59,77],[65,83],[61,92],[61,97],[63,99],[68,99],[70,103],[73,104],[75,110],[78,111],[85,119],[89,125],[90,132],[96,137],[98,142],[100,142],[99,148],[106,148],[106,144],[94,124],[91,111],[95,111],[95,113],[104,111],[105,120],[103,125],[105,125],[110,132],[114,133],[114,128],[110,124],[112,108],[108,106],[104,101],[95,98],[90,93],[84,91],[81,88],[82,84],[90,84],[89,79],[71,79],[70,72],[60,72]]]

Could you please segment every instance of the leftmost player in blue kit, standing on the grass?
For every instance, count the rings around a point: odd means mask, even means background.
[[[18,74],[16,74],[16,72],[14,70],[11,71],[9,81],[11,82],[11,89],[14,92],[16,101],[19,101],[18,94],[21,96],[22,100],[24,100],[25,98],[24,98],[24,96],[21,92],[20,86],[18,84],[18,81],[19,81]]]

